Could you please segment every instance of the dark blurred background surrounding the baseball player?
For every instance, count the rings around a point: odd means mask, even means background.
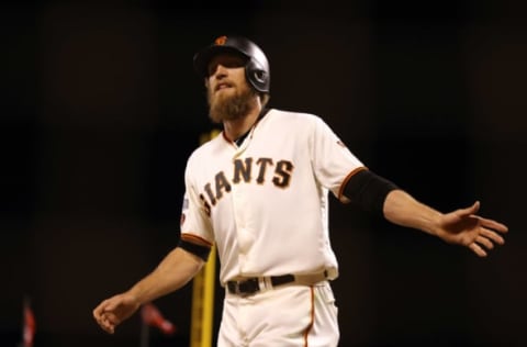
[[[176,4],[177,3],[177,4]],[[92,309],[178,242],[183,170],[213,124],[193,54],[257,42],[274,108],[321,115],[372,170],[441,211],[481,200],[480,259],[332,198],[340,346],[527,346],[525,2],[40,1],[0,8],[0,345],[31,299],[43,346],[138,346]],[[215,328],[222,290],[217,290]],[[191,284],[156,301],[188,346]]]

